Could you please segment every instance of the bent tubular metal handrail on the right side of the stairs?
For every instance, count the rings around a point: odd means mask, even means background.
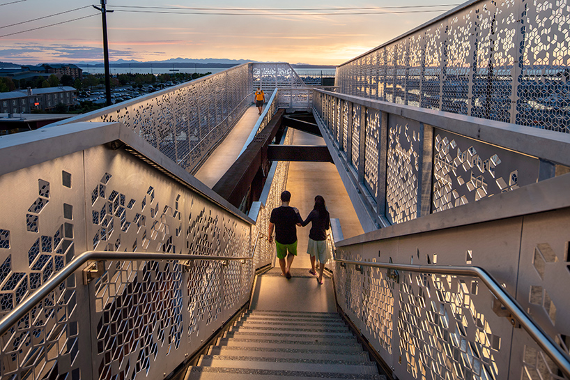
[[[408,271],[416,273],[431,273],[438,275],[466,275],[477,277],[486,284],[493,295],[511,312],[511,317],[516,319],[526,332],[532,337],[534,342],[543,349],[554,361],[565,376],[570,378],[570,356],[548,336],[544,330],[534,323],[530,315],[523,310],[523,307],[493,278],[491,274],[478,266],[433,266],[433,265],[413,265],[413,264],[392,264],[392,263],[372,263],[369,261],[353,261],[345,259],[333,259],[339,263],[354,264],[360,266],[371,266],[374,268],[385,268],[392,271]]]

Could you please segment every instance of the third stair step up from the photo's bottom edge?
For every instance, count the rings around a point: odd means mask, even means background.
[[[353,340],[345,342],[305,342],[302,340],[276,340],[276,339],[240,339],[220,337],[216,346],[224,347],[259,347],[268,349],[331,349],[334,351],[362,351],[362,346]]]

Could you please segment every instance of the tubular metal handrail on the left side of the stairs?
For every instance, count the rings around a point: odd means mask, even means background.
[[[160,253],[160,252],[102,252],[87,251],[72,259],[61,271],[56,273],[41,287],[39,287],[31,296],[27,297],[24,302],[20,303],[11,312],[6,314],[0,320],[0,336],[6,333],[17,321],[22,319],[38,302],[49,294],[52,290],[61,284],[66,278],[75,273],[87,261],[95,260],[213,260],[213,261],[238,261],[251,260],[255,251],[251,256],[244,257],[224,257],[224,256],[206,256],[203,254],[176,254],[176,253]]]

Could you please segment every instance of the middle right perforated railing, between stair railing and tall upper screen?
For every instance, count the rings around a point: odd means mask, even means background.
[[[314,114],[364,231],[570,171],[570,137],[314,90]]]

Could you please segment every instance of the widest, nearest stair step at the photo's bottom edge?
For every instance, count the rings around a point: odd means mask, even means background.
[[[272,371],[245,370],[243,368],[192,367],[187,372],[185,380],[298,380],[298,379],[327,379],[327,380],[385,380],[378,374],[334,374],[331,372],[302,372],[302,371]]]

